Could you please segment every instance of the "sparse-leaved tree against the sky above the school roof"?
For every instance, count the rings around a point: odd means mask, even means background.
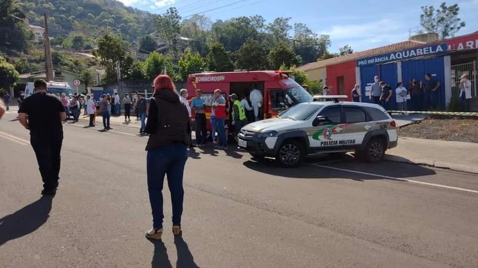
[[[438,33],[440,39],[453,37],[462,28],[465,27],[465,21],[458,17],[460,7],[458,4],[447,6],[442,2],[439,9],[430,6],[422,6],[423,14],[420,15],[420,24],[428,32]]]

